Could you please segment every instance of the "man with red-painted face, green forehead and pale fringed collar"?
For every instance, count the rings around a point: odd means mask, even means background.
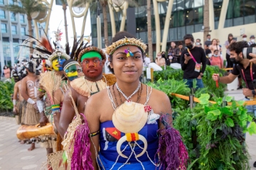
[[[71,81],[70,89],[65,93],[60,119],[57,122],[61,137],[64,136],[68,125],[75,116],[70,95],[75,101],[78,112],[84,113],[87,99],[110,85],[112,76],[109,76],[109,74],[102,75],[105,59],[105,54],[97,47],[86,47],[78,55],[78,62],[81,63],[82,72],[85,76]],[[73,74],[70,73],[70,75]]]

